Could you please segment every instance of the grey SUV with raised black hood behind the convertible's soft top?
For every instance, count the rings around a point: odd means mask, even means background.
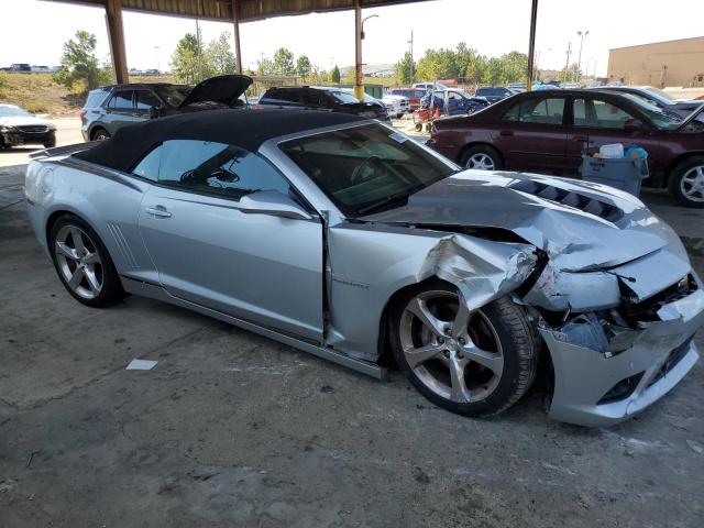
[[[191,87],[170,82],[113,85],[88,92],[80,111],[86,141],[111,138],[125,124],[175,113],[246,106],[244,91],[252,84],[245,75],[211,77]]]

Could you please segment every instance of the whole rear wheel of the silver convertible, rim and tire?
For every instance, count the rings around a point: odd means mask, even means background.
[[[73,215],[59,217],[48,242],[56,273],[76,300],[100,308],[124,297],[108,250],[86,222]]]

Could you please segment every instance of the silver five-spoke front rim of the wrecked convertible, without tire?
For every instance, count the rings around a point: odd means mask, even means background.
[[[460,404],[481,402],[498,386],[504,354],[496,329],[481,310],[470,311],[458,294],[417,295],[399,324],[408,366],[438,396]]]

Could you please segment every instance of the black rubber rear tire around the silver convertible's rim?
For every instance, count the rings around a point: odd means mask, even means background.
[[[63,270],[63,265],[59,262],[62,260],[62,255],[59,255],[59,251],[57,249],[57,239],[59,238],[59,233],[68,229],[69,231],[73,228],[78,228],[84,235],[87,235],[84,239],[84,243],[88,251],[97,252],[99,256],[99,268],[96,270],[96,275],[99,272],[99,279],[101,282],[101,287],[99,293],[92,298],[86,298],[85,296],[79,295],[72,286],[68,284],[68,279],[65,277]],[[76,244],[73,242],[73,246]],[[122,289],[122,283],[120,282],[120,277],[118,272],[112,263],[112,258],[110,258],[110,254],[106,249],[105,244],[98,237],[98,233],[88,226],[85,221],[74,215],[62,215],[56,219],[56,221],[52,224],[51,232],[48,234],[48,248],[50,253],[52,255],[52,262],[54,263],[54,268],[61,279],[62,284],[66,288],[66,290],[79,302],[90,306],[92,308],[103,308],[116,302],[119,302],[125,297],[125,293]],[[68,262],[69,258],[63,257],[65,262]],[[73,262],[73,261],[72,261]],[[74,268],[76,263],[74,262]],[[75,273],[75,272],[74,272]],[[85,280],[85,278],[82,279]],[[81,280],[81,284],[87,284]],[[82,288],[87,289],[87,288]]]

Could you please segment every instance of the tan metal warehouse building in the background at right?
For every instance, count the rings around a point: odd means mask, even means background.
[[[704,36],[609,50],[608,79],[660,88],[704,87]]]

